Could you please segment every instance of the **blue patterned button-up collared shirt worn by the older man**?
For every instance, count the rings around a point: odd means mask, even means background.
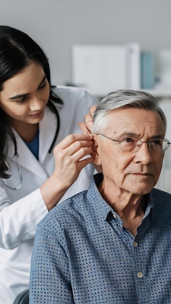
[[[30,304],[171,304],[171,194],[148,194],[134,237],[94,179],[39,223]]]

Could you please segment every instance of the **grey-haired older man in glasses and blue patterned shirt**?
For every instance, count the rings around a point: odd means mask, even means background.
[[[93,157],[103,174],[38,225],[31,304],[171,304],[171,194],[154,188],[166,124],[150,94],[100,102]]]

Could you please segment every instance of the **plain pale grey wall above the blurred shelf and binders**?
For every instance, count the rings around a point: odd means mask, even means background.
[[[171,0],[0,0],[0,24],[41,44],[53,84],[71,81],[73,44],[137,41],[154,53],[171,48]]]

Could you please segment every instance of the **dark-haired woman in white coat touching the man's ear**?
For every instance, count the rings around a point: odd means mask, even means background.
[[[93,139],[78,123],[92,104],[83,89],[52,87],[42,49],[0,26],[0,304],[29,287],[37,223],[89,185]]]

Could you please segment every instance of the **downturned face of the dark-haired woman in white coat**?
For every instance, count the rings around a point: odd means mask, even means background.
[[[3,83],[0,107],[10,122],[38,123],[44,116],[50,94],[50,85],[41,65],[31,62]]]

